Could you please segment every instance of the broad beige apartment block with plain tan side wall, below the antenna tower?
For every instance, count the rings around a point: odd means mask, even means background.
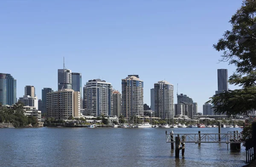
[[[79,117],[80,92],[72,89],[61,89],[47,93],[47,116],[55,119]]]

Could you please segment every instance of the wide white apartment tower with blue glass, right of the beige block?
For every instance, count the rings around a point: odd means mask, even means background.
[[[111,83],[93,79],[84,85],[84,111],[91,116],[113,115],[113,88]]]

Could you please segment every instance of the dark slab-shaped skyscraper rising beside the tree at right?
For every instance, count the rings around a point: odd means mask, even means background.
[[[228,91],[227,69],[218,69],[218,91]]]

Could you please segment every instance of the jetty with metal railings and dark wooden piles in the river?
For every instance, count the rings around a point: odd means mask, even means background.
[[[230,144],[230,150],[241,149],[241,133],[238,130],[228,133],[201,133],[198,131],[198,133],[184,134],[170,132],[170,134],[166,134],[166,143],[171,143],[171,149],[174,149],[175,143],[175,158],[179,158],[180,150],[184,156],[185,143],[226,143]]]

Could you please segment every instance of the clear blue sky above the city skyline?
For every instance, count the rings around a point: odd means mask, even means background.
[[[217,90],[221,53],[212,47],[241,0],[1,0],[0,72],[17,79],[17,98],[34,85],[57,90],[57,71],[82,73],[82,83],[138,74],[144,103],[154,83],[167,80],[202,105]],[[230,89],[238,88],[229,85]]]

